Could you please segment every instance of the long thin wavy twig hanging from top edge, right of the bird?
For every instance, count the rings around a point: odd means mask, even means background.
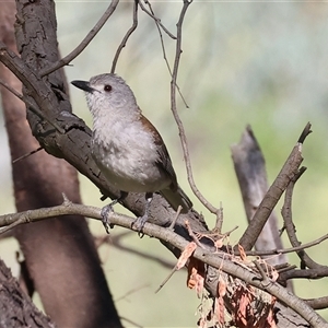
[[[188,176],[188,181],[191,187],[191,190],[196,195],[196,197],[201,201],[201,203],[211,212],[216,214],[216,216],[220,214],[220,209],[216,209],[213,207],[199,191],[197,188],[194,177],[192,177],[192,169],[191,169],[191,163],[190,163],[190,156],[189,156],[189,151],[188,151],[188,143],[187,143],[187,138],[184,129],[184,125],[179,118],[179,115],[177,113],[176,108],[176,81],[177,81],[177,72],[178,72],[178,67],[179,67],[179,61],[180,61],[180,56],[181,56],[181,40],[183,40],[183,23],[184,23],[184,17],[186,14],[186,11],[189,7],[189,4],[192,1],[187,1],[184,0],[184,7],[180,12],[180,16],[177,23],[177,42],[176,42],[176,52],[175,52],[175,61],[174,61],[174,67],[173,67],[173,73],[172,73],[172,82],[171,82],[171,110],[173,113],[174,119],[177,124],[178,130],[179,130],[179,136],[180,136],[180,141],[184,150],[184,159],[186,163],[186,168],[187,168],[187,176]]]

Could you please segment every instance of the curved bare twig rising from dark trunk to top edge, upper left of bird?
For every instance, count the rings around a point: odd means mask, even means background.
[[[78,57],[84,49],[85,47],[92,42],[92,39],[97,35],[97,33],[102,30],[102,27],[105,25],[107,20],[112,16],[114,13],[119,0],[113,0],[107,10],[104,12],[102,17],[98,20],[98,22],[94,25],[94,27],[87,33],[87,35],[84,37],[84,39],[81,42],[81,44],[69,55],[67,55],[65,58],[58,60],[50,67],[44,69],[40,72],[40,77],[48,75],[56,70],[62,68],[63,66],[70,63],[75,57]]]

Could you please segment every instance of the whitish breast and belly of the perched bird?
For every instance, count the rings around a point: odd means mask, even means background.
[[[107,180],[122,191],[151,192],[171,184],[156,165],[157,145],[140,126],[114,127],[106,133],[95,130],[92,152]]]

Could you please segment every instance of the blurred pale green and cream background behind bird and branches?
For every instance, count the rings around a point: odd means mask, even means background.
[[[96,4],[95,4],[96,2]],[[176,34],[183,1],[152,1],[162,23]],[[108,7],[104,1],[56,1],[58,39],[62,56],[84,38]],[[195,1],[184,23],[183,54],[178,85],[189,106],[178,97],[178,112],[189,142],[195,180],[215,206],[222,202],[224,231],[238,225],[230,238],[235,244],[246,219],[234,174],[230,147],[239,141],[250,125],[262,149],[271,183],[294,147],[307,121],[313,133],[304,145],[308,167],[294,192],[293,215],[303,243],[326,234],[328,164],[328,3],[325,2],[221,2]],[[132,1],[121,1],[89,47],[66,68],[68,81],[89,80],[109,72],[115,51],[132,24]],[[163,33],[163,32],[162,32]],[[175,42],[163,33],[166,56],[173,67]],[[160,130],[171,153],[180,186],[209,226],[213,215],[192,197],[188,186],[177,127],[169,109],[171,77],[163,59],[157,30],[151,17],[139,10],[138,30],[119,58],[116,72],[131,86],[143,114]],[[73,112],[91,127],[83,93],[70,87]],[[2,155],[1,213],[14,212],[11,164],[3,119],[0,130]],[[23,155],[23,154],[22,154]],[[95,186],[81,177],[85,204],[102,207]],[[280,213],[282,203],[277,207]],[[117,211],[120,209],[117,208]],[[95,235],[103,225],[90,221]],[[282,221],[280,221],[282,226]],[[125,231],[115,227],[113,238]],[[120,249],[103,245],[104,270],[119,314],[143,327],[192,327],[200,300],[186,288],[186,271],[176,273],[159,294],[154,291],[172,268],[174,257],[159,242],[137,234],[121,235]],[[286,239],[284,245],[289,247]],[[327,265],[327,242],[308,254]],[[0,241],[0,257],[17,273],[17,245]],[[296,257],[290,262],[300,265]],[[168,266],[168,267],[169,267]],[[300,297],[327,294],[327,282],[295,281]],[[319,312],[328,319],[328,311]],[[128,320],[125,326],[132,326]]]

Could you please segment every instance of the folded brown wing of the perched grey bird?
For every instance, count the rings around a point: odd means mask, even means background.
[[[140,120],[142,121],[143,127],[145,129],[148,129],[150,132],[152,132],[152,134],[153,134],[154,142],[157,147],[157,153],[159,153],[159,161],[156,162],[156,165],[161,169],[163,169],[163,172],[165,174],[167,174],[168,177],[171,178],[171,180],[172,180],[171,189],[177,190],[176,174],[174,172],[168,151],[166,149],[166,145],[165,145],[160,132],[143,115],[141,115]]]

